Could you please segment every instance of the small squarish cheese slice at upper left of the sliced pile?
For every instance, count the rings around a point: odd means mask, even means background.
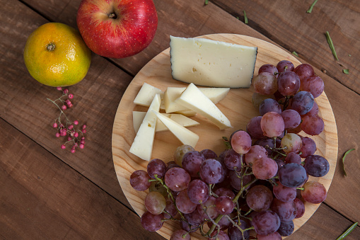
[[[151,102],[153,101],[153,97],[156,94],[160,94],[160,98],[161,98],[160,108],[165,109],[165,105],[163,102],[164,92],[161,91],[161,89],[146,83],[144,83],[141,86],[139,93],[137,93],[137,96],[134,99],[134,103],[137,105],[143,105],[149,107]]]

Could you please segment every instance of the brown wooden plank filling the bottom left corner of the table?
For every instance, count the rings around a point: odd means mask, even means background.
[[[0,239],[163,239],[4,120],[0,132]]]

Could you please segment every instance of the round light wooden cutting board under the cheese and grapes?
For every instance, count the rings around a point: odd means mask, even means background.
[[[214,34],[204,35],[199,38],[208,38],[211,40],[218,40],[223,42],[230,42],[245,46],[258,47],[257,60],[255,66],[255,75],[262,64],[273,64],[276,66],[277,62],[287,59],[294,63],[295,67],[301,62],[282,50],[281,48],[272,45],[264,40],[251,38],[245,35],[235,34]],[[159,55],[151,59],[151,61],[144,66],[143,69],[134,77],[131,84],[125,91],[124,96],[117,108],[115,122],[112,130],[112,158],[114,161],[117,179],[121,185],[124,195],[129,200],[134,210],[141,216],[145,211],[144,199],[145,192],[134,190],[130,183],[129,177],[132,172],[143,169],[146,171],[147,161],[139,159],[137,156],[129,153],[132,141],[136,136],[132,122],[132,111],[140,110],[146,111],[147,109],[135,105],[134,98],[137,96],[142,84],[146,82],[152,86],[156,86],[165,91],[168,86],[187,86],[180,81],[175,81],[171,76],[170,69],[170,49],[164,50]],[[326,90],[326,89],[325,89]],[[228,117],[233,125],[232,129],[219,130],[218,127],[213,125],[209,120],[197,115],[192,117],[200,123],[195,127],[189,127],[189,130],[199,135],[200,139],[195,149],[201,151],[202,149],[212,149],[216,154],[220,154],[225,145],[221,137],[230,137],[231,133],[235,130],[245,130],[248,121],[259,115],[252,105],[253,89],[231,89],[222,101],[217,103],[218,108]],[[335,166],[337,161],[337,127],[335,118],[332,113],[331,105],[325,93],[318,98],[315,98],[319,106],[319,115],[325,122],[325,130],[318,136],[312,137],[317,144],[317,152],[324,156],[330,163],[330,171],[323,178],[310,178],[311,180],[319,181],[325,185],[328,190],[334,176]],[[303,132],[302,136],[306,136]],[[163,161],[173,161],[173,154],[175,149],[180,146],[180,141],[169,131],[158,132],[155,135],[155,142],[153,144],[152,158],[162,159]],[[294,219],[295,231],[301,227],[318,209],[319,205],[306,203],[306,212],[300,219]],[[139,219],[140,221],[140,219]],[[166,239],[170,239],[170,234],[175,230],[180,229],[180,225],[175,221],[167,221],[163,227],[158,231]],[[192,234],[192,239],[204,239],[200,234]]]

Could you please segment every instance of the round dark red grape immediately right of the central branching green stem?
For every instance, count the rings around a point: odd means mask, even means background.
[[[255,185],[246,194],[246,203],[256,212],[268,210],[272,200],[272,191],[265,185]]]

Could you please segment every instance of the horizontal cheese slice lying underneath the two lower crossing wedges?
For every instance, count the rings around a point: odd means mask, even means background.
[[[139,130],[139,127],[141,125],[142,120],[144,120],[145,115],[146,112],[138,112],[138,111],[132,112],[132,123],[134,125],[135,132]],[[199,122],[192,120],[191,118],[187,118],[181,114],[161,113],[161,115],[164,115],[167,118],[170,118],[175,122],[178,122],[183,127],[193,127],[199,125]],[[166,127],[166,125],[164,125],[163,122],[161,122],[161,120],[157,120],[155,132],[163,132],[167,130],[168,127]]]

